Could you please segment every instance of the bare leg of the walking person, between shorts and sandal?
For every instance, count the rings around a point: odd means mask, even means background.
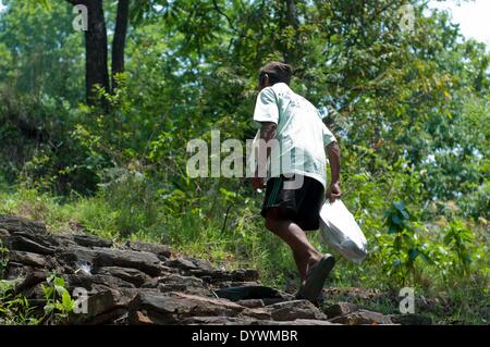
[[[266,226],[292,249],[303,284],[306,281],[308,267],[315,264],[321,255],[308,241],[305,232],[286,215],[286,212],[281,209],[270,209],[267,212]]]

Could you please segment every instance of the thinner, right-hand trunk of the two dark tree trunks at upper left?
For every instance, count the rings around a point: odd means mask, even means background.
[[[115,74],[124,72],[124,48],[126,44],[127,18],[130,0],[119,0],[118,16],[115,18],[114,38],[112,41],[112,89],[118,88]]]

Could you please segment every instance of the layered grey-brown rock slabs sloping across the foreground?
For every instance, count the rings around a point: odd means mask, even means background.
[[[174,258],[168,246],[128,241],[114,247],[89,234],[54,235],[40,222],[0,215],[9,249],[4,277],[42,308],[41,284],[52,271],[70,293],[87,292],[87,312],[71,324],[392,324],[396,317],[348,302],[319,309],[262,286],[255,270],[223,271],[201,259]]]

